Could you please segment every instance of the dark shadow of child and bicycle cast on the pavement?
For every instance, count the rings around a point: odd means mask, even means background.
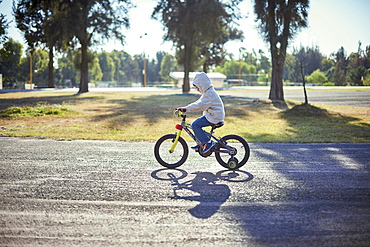
[[[160,169],[152,172],[151,176],[158,180],[172,182],[174,196],[170,197],[171,199],[199,202],[188,211],[194,217],[202,219],[214,215],[230,197],[229,186],[220,183],[221,181],[248,182],[253,179],[252,174],[239,170],[223,170],[216,174],[211,172],[193,172],[191,174],[195,174],[195,177],[185,182],[180,182],[180,180],[188,177],[188,173],[181,169]]]

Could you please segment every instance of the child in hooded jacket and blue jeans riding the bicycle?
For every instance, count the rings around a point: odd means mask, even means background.
[[[202,96],[197,101],[177,109],[182,112],[203,111],[203,116],[194,120],[191,127],[194,131],[195,137],[203,146],[202,152],[206,153],[211,150],[216,143],[211,141],[202,128],[223,122],[225,119],[225,109],[220,96],[215,91],[212,82],[206,73],[202,72],[197,74],[194,77],[193,86],[202,94]],[[192,148],[198,147],[195,146]]]

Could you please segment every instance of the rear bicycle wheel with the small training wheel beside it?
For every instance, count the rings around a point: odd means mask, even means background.
[[[227,135],[222,137],[220,141],[233,149],[232,152],[225,153],[224,151],[227,151],[227,149],[217,145],[215,156],[221,166],[236,170],[247,163],[250,149],[246,140],[237,135]]]

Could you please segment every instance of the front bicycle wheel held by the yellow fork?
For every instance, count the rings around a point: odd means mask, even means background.
[[[164,135],[158,139],[154,146],[154,156],[156,160],[164,167],[179,167],[188,158],[189,148],[185,140],[180,136],[175,150],[170,153],[170,148],[176,138],[174,134]]]

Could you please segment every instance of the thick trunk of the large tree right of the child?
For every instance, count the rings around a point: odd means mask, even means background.
[[[272,78],[269,99],[284,101],[283,72],[285,57],[272,51]]]

